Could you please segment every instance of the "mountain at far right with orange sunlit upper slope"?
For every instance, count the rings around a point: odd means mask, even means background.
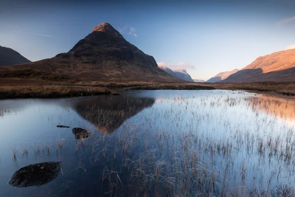
[[[295,49],[290,49],[258,57],[245,68],[220,82],[243,83],[294,80]]]

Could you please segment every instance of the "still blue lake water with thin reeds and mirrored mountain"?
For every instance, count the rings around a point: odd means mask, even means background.
[[[241,91],[0,100],[0,196],[244,196],[294,186],[294,130],[295,100]],[[49,183],[7,184],[49,161],[61,161]]]

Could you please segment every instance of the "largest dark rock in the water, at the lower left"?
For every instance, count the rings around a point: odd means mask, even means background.
[[[31,164],[14,172],[8,184],[13,187],[39,187],[55,179],[60,169],[61,162]]]

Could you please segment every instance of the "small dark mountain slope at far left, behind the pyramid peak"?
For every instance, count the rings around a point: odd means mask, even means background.
[[[0,46],[0,66],[24,64],[30,62],[17,51]]]

